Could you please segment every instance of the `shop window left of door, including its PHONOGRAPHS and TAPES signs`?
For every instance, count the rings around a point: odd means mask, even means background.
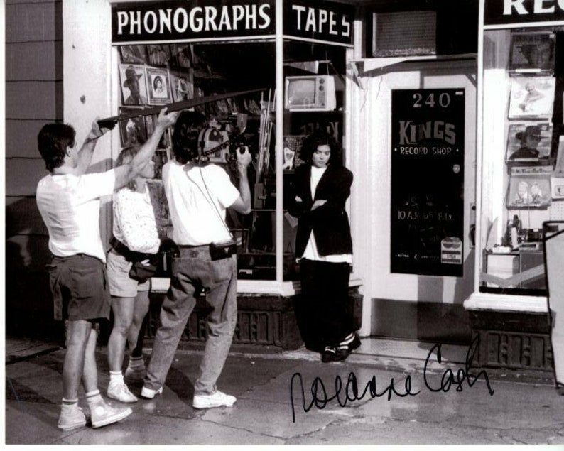
[[[317,128],[345,146],[345,55],[352,48],[354,10],[330,2],[323,2],[322,13],[300,1],[237,4],[227,9],[219,1],[183,8],[170,1],[113,4],[117,113],[140,113],[119,122],[119,146],[142,143],[151,134],[156,116],[143,114],[147,107],[234,93],[194,109],[206,118],[199,135],[202,152],[222,165],[236,186],[234,149],[247,146],[253,156],[251,213],[227,212],[238,241],[238,279],[298,281],[295,221],[288,214],[293,171],[303,164],[303,138]],[[198,30],[198,14],[202,24],[218,32]],[[331,23],[317,22],[325,20],[323,14]],[[226,25],[235,18],[237,26]],[[161,23],[160,37],[156,23]],[[157,156],[158,166],[173,158],[170,131]],[[159,232],[171,237],[158,178],[151,183],[151,196]]]

